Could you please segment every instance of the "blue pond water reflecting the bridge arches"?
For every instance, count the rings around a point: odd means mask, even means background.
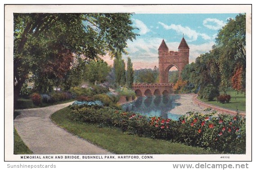
[[[159,96],[159,97],[138,97],[137,100],[122,105],[122,109],[126,112],[131,111],[140,113],[148,117],[162,117],[178,120],[181,115],[171,113],[170,110],[180,105],[175,100],[179,99],[179,95]]]

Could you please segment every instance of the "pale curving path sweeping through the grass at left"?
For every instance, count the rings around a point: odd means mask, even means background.
[[[21,114],[14,119],[14,127],[34,154],[112,154],[51,121],[51,114],[71,104],[17,110]]]

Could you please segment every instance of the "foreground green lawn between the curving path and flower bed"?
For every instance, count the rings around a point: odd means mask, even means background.
[[[166,140],[143,138],[128,135],[113,128],[100,128],[97,125],[72,122],[68,119],[69,108],[55,112],[53,122],[67,131],[87,139],[116,154],[214,154],[203,148],[171,143]]]

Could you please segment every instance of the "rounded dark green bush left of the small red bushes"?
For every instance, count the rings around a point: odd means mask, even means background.
[[[216,96],[219,96],[219,89],[212,84],[207,85],[200,89],[198,96],[201,99],[212,101]]]

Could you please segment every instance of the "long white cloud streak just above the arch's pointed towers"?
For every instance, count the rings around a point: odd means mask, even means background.
[[[162,22],[158,22],[158,23],[161,24],[164,27],[164,29],[166,29],[166,30],[174,30],[177,33],[184,33],[184,35],[189,37],[189,39],[187,40],[188,42],[197,40],[198,36],[201,36],[202,39],[205,39],[205,40],[211,40],[212,39],[212,37],[210,37],[209,35],[204,34],[204,33],[198,33],[197,31],[192,30],[188,26],[184,27],[184,26],[175,25],[175,24],[171,24],[170,26],[168,26],[168,25],[166,25]]]

